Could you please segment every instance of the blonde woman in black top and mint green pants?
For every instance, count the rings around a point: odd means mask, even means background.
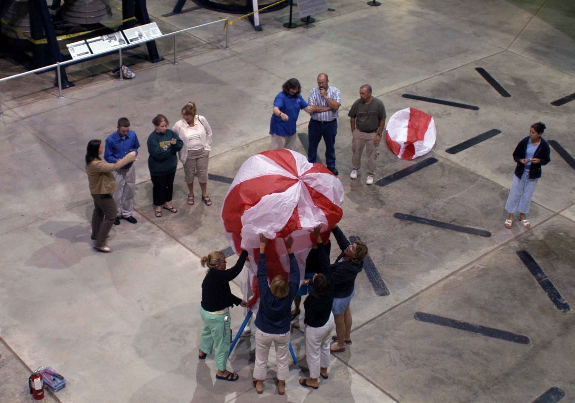
[[[229,307],[241,305],[247,307],[243,301],[232,294],[229,282],[232,281],[244,267],[247,251],[241,251],[239,259],[233,268],[226,270],[225,255],[220,251],[213,251],[202,257],[202,266],[208,266],[208,273],[202,282],[202,303],[200,315],[204,320],[204,328],[200,338],[200,353],[198,358],[205,359],[211,354],[214,344],[216,346],[217,379],[235,381],[237,374],[225,369],[228,362],[228,352],[231,340]]]

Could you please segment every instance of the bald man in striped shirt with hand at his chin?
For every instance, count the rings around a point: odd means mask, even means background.
[[[338,109],[342,104],[342,94],[328,83],[327,74],[321,73],[317,76],[317,87],[309,91],[308,103],[313,106],[313,113],[308,126],[308,161],[316,162],[317,145],[323,137],[325,165],[333,175],[338,175],[335,168],[335,135],[338,134]]]

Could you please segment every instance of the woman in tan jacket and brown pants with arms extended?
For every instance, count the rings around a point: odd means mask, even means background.
[[[112,197],[116,191],[116,180],[112,171],[122,168],[136,158],[136,152],[129,152],[116,164],[110,164],[100,158],[104,153],[104,144],[100,140],[90,140],[86,147],[86,172],[90,184],[90,193],[94,199],[94,212],[92,214],[92,236],[94,247],[102,252],[111,252],[112,248],[106,246],[106,237],[114,218],[117,207]]]

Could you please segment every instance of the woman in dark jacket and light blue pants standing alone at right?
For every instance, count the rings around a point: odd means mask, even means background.
[[[520,213],[519,222],[526,228],[531,226],[525,215],[529,212],[535,185],[541,177],[541,165],[547,165],[551,161],[549,144],[541,137],[544,130],[545,125],[541,122],[532,125],[529,135],[522,139],[513,151],[513,160],[517,162],[517,166],[505,203],[505,210],[509,213],[505,220],[507,228],[511,228],[517,210]]]

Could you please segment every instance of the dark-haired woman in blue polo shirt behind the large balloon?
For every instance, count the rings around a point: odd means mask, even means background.
[[[282,91],[274,99],[274,114],[271,115],[270,134],[273,150],[287,148],[296,150],[296,122],[300,109],[313,112],[313,106],[300,95],[301,86],[297,79],[283,83]]]

